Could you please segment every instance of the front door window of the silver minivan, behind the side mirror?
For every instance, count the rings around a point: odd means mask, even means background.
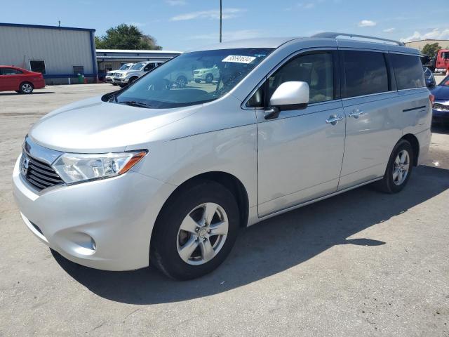
[[[268,97],[286,81],[304,81],[309,84],[309,103],[324,102],[334,98],[332,53],[300,55],[288,61],[268,79]]]

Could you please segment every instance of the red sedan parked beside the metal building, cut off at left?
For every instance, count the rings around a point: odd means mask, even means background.
[[[45,86],[40,72],[30,72],[11,65],[0,65],[0,91],[32,93]]]

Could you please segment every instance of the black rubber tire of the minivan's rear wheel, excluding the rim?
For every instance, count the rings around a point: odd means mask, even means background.
[[[408,171],[406,174],[406,178],[403,179],[402,182],[397,181],[395,183],[394,173],[395,170],[397,169],[395,161],[396,157],[398,157],[398,154],[403,151],[406,151],[408,153]],[[387,169],[385,170],[384,178],[382,178],[382,180],[377,181],[375,183],[375,187],[377,187],[378,190],[385,193],[401,192],[401,190],[404,187],[406,187],[408,180],[412,175],[414,160],[415,160],[415,153],[413,152],[412,145],[410,145],[410,143],[408,143],[407,140],[404,139],[399,140],[399,142],[396,144],[393,151],[391,152]]]

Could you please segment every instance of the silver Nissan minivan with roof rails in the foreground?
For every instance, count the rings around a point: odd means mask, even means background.
[[[214,65],[214,81],[172,80]],[[419,52],[399,42],[217,44],[43,117],[15,199],[75,263],[191,279],[225,260],[240,227],[369,183],[403,190],[429,150],[431,98]]]

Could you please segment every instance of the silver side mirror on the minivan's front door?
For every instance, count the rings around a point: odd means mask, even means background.
[[[265,119],[278,117],[281,110],[304,109],[309,104],[309,94],[307,82],[283,82],[269,100],[270,108],[265,111]]]

